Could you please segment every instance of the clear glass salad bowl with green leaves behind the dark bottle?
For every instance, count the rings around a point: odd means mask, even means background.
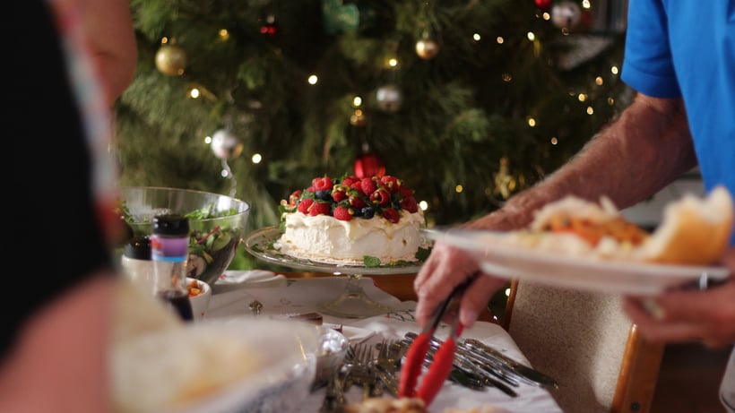
[[[119,212],[134,237],[151,235],[156,215],[189,219],[187,275],[214,284],[227,270],[242,243],[250,204],[227,195],[189,189],[124,186]]]

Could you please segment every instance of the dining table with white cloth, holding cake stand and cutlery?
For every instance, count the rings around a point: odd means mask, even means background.
[[[308,271],[225,271],[212,285],[212,298],[203,322],[229,317],[283,319],[299,314],[318,314],[321,315],[318,323],[341,331],[350,345],[379,345],[382,341],[402,340],[407,334],[421,331],[414,317],[417,300],[413,290],[415,277],[416,274],[377,274],[350,280],[350,276]],[[368,297],[385,305],[385,314],[344,318],[319,313],[319,305],[340,295],[348,282],[359,282]],[[450,325],[442,322],[434,335],[444,340],[449,331]],[[530,366],[510,334],[489,312],[480,314],[479,320],[471,328],[465,328],[462,338],[480,340],[506,357]],[[473,390],[447,380],[428,410],[431,413],[442,413],[446,409],[480,408],[485,409],[480,411],[493,413],[562,412],[552,395],[553,388],[518,383],[514,390],[516,396],[512,397],[492,386]],[[312,391],[307,400],[300,404],[301,411],[323,412],[324,396],[324,388]],[[363,392],[357,386],[345,392],[348,403],[359,403],[362,398]]]

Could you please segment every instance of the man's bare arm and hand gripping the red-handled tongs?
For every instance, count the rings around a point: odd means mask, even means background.
[[[570,194],[592,201],[606,195],[618,208],[627,208],[695,166],[681,99],[639,94],[617,120],[597,133],[566,165],[538,185],[515,194],[503,208],[468,222],[463,228],[523,228],[532,221],[533,211]],[[480,272],[480,267],[468,254],[437,242],[414,281],[419,297],[419,323],[427,323],[433,309],[454,286],[476,272]],[[505,282],[485,276],[472,283],[462,298],[460,321],[471,326]]]

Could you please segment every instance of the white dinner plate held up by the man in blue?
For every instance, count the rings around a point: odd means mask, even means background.
[[[482,271],[506,279],[531,280],[551,286],[630,295],[655,295],[667,288],[726,279],[722,267],[605,261],[563,256],[520,246],[498,245],[500,234],[482,230],[426,230],[428,237],[472,254]]]

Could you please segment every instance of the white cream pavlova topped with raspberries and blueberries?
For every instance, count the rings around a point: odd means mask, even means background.
[[[419,234],[423,211],[395,176],[316,177],[282,200],[280,210],[282,234],[273,246],[283,254],[368,267],[428,254]]]

